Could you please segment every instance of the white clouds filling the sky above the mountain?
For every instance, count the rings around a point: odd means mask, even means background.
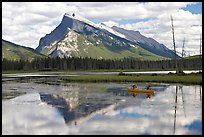
[[[196,48],[199,42],[195,44],[195,37],[202,33],[202,15],[181,9],[188,4],[195,2],[2,2],[2,38],[36,48],[40,38],[60,23],[64,13],[75,12],[88,19],[98,19],[108,26],[139,30],[143,35],[171,48],[172,15],[176,43],[179,45],[183,37],[186,37],[189,41],[186,48]],[[147,18],[151,19],[129,24],[118,22]],[[192,43],[195,45],[189,45]]]

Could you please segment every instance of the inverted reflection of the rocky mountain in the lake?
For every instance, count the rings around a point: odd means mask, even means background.
[[[160,85],[159,87],[152,87],[152,89],[156,91],[164,91],[168,86],[169,85]],[[63,86],[63,89],[65,90],[69,88],[73,89],[74,87]],[[144,89],[145,87],[141,86],[140,88]],[[64,118],[66,124],[74,123],[75,125],[77,124],[78,119],[83,119],[85,117],[90,116],[91,114],[95,114],[97,111],[101,109],[105,109],[108,106],[117,104],[117,102],[121,100],[120,98],[121,96],[126,96],[126,97],[131,96],[130,93],[127,92],[126,87],[123,89],[121,87],[117,87],[117,85],[114,86],[114,84],[113,86],[106,89],[105,92],[107,92],[107,94],[103,94],[104,97],[101,97],[101,95],[92,97],[86,93],[81,93],[83,95],[81,95],[79,99],[78,90],[79,88],[77,88],[77,90],[75,91],[69,91],[64,93],[55,93],[55,94],[39,93],[39,94],[40,94],[40,99],[43,102],[46,102],[48,105],[51,105],[57,108],[61,116]],[[114,100],[112,102],[110,102],[111,96],[112,96],[112,100]],[[94,101],[91,101],[91,99],[93,98],[94,98]],[[145,99],[146,95],[144,96],[140,95],[137,98]],[[83,100],[83,102],[81,100]],[[142,101],[137,101],[137,105],[141,103]],[[133,104],[134,102],[132,102],[131,104],[126,103],[125,106],[122,104],[120,105],[117,104],[115,105],[115,110],[122,109],[127,106],[131,106]]]

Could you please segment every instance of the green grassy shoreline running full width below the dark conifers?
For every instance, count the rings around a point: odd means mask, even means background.
[[[150,70],[149,70],[150,71]],[[159,70],[157,70],[159,71]],[[166,71],[166,70],[165,70]],[[32,73],[80,73],[80,72],[93,72],[93,74],[82,74],[78,76],[62,76],[59,74],[60,79],[65,82],[158,82],[158,83],[181,83],[181,84],[197,84],[202,85],[202,72],[199,73],[189,73],[189,74],[182,74],[177,75],[174,73],[169,74],[138,74],[138,73],[126,73],[126,72],[132,72],[132,71],[115,71],[118,72],[115,74],[94,74],[94,72],[113,72],[112,70],[109,71],[8,71],[2,74],[32,74]],[[134,72],[137,72],[136,70]],[[138,71],[140,72],[140,71]],[[58,75],[58,74],[57,74]],[[61,76],[60,76],[61,75]],[[32,77],[32,75],[31,75]]]

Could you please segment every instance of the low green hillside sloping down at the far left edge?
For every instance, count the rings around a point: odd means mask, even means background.
[[[2,39],[2,59],[5,58],[8,60],[32,60],[37,57],[42,58],[45,57],[45,55],[37,53],[32,48],[23,47]]]

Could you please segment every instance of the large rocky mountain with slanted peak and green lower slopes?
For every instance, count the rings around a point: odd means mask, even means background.
[[[110,28],[103,23],[97,25],[79,15],[65,14],[59,26],[40,39],[36,51],[61,58],[119,59],[126,57],[156,60],[171,58],[174,55],[172,51],[161,44],[154,50],[149,48],[155,43],[158,44],[153,39],[149,39],[148,43],[135,42],[136,34],[131,39],[132,34],[127,33],[129,33],[128,30],[121,32],[120,28]],[[142,37],[141,34],[140,36]],[[162,53],[160,53],[161,51]]]

